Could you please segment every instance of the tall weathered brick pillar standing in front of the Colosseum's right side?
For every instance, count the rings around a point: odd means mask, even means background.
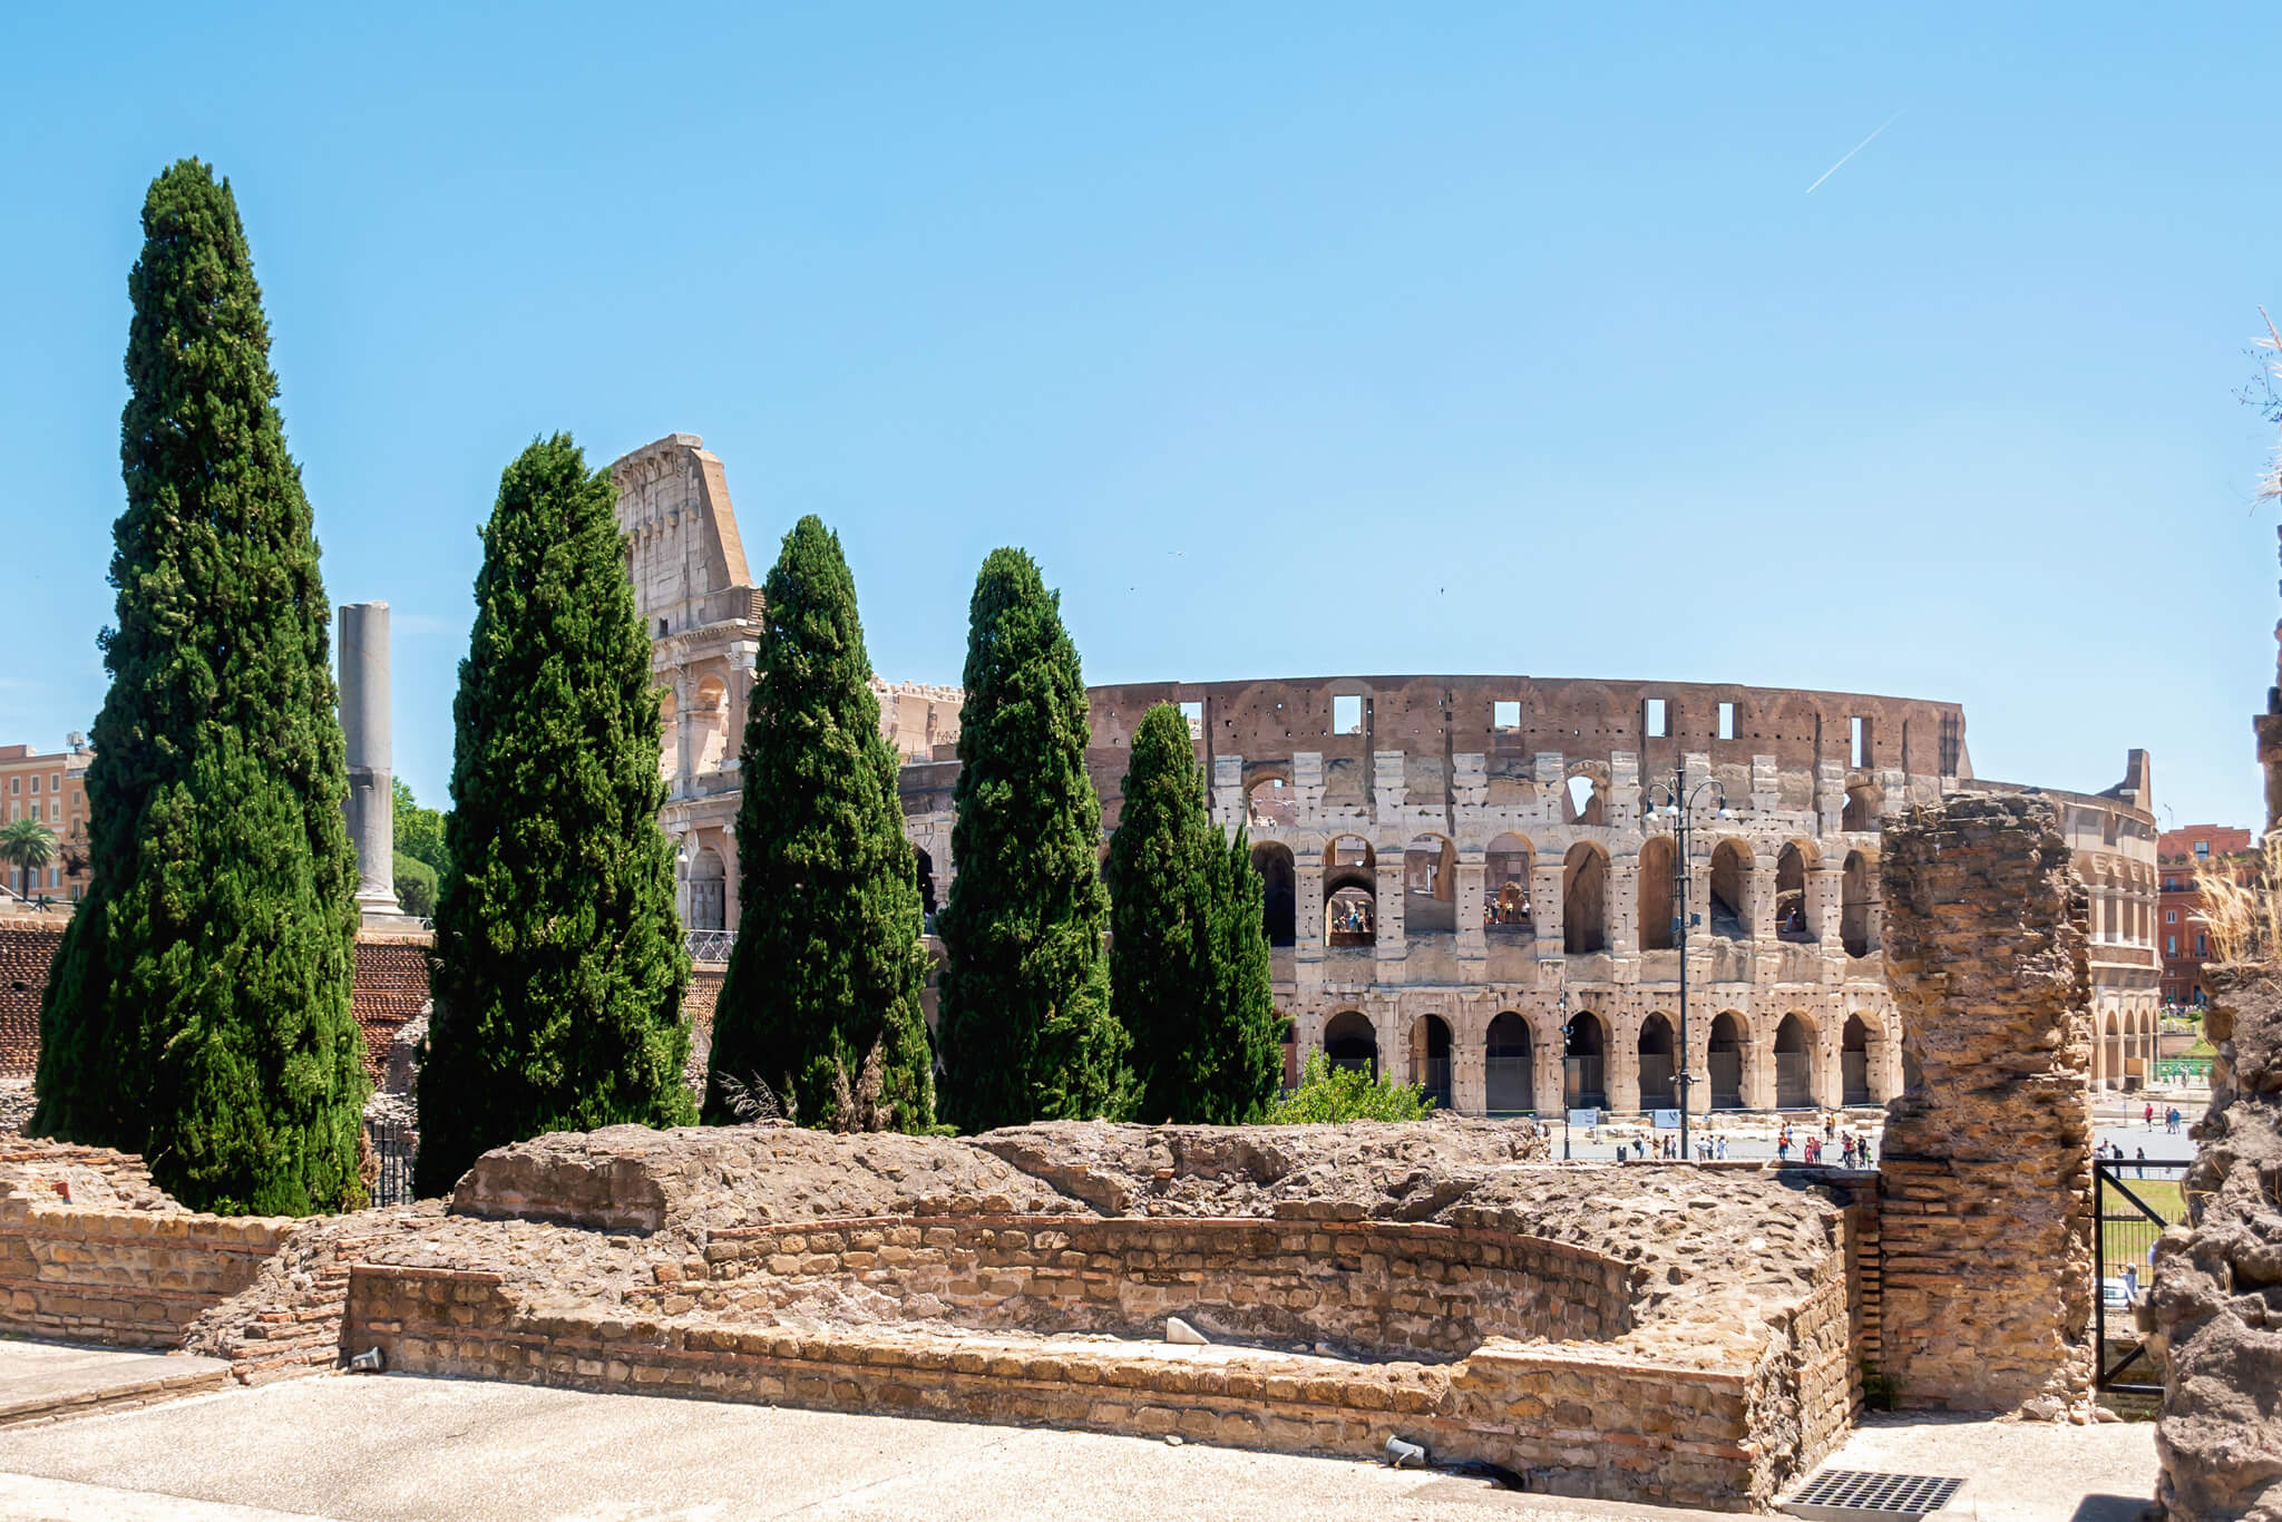
[[[1887,1109],[1885,1374],[2054,1417],[2093,1376],[2086,899],[2049,799],[1887,815],[1885,965],[1919,1084]]]

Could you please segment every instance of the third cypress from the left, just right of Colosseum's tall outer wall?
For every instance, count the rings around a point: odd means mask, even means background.
[[[803,1123],[926,1130],[936,1082],[901,762],[879,732],[856,580],[819,518],[785,534],[762,605],[739,764],[742,908],[705,1118],[737,1118],[723,1079],[760,1077]]]

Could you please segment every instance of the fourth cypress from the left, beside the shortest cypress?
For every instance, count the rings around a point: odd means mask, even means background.
[[[993,550],[968,607],[958,819],[942,968],[942,1111],[968,1132],[1123,1118],[1132,1041],[1109,1013],[1102,803],[1086,774],[1086,682],[1061,598]]]

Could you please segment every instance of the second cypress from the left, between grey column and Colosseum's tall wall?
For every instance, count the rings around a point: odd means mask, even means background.
[[[452,701],[422,1196],[541,1132],[696,1118],[657,689],[614,507],[609,475],[557,434],[507,468],[484,525]]]

